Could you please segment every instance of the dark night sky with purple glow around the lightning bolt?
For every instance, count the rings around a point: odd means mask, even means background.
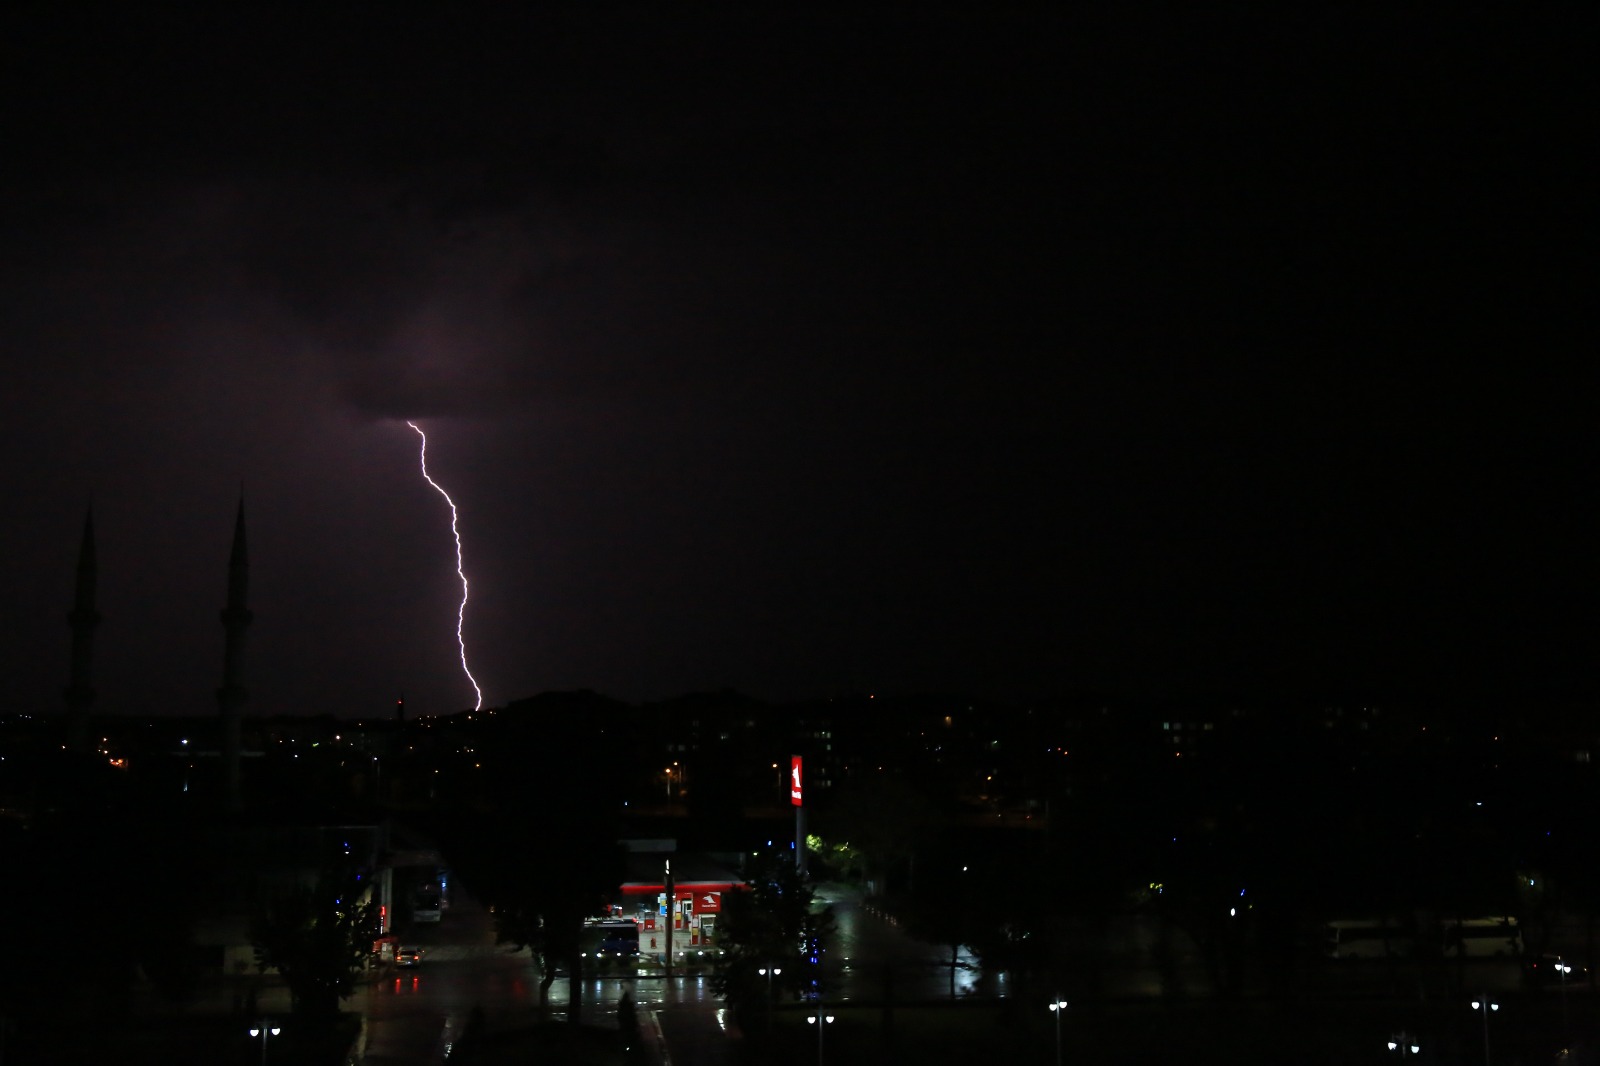
[[[93,501],[213,712],[240,487],[248,712],[470,706],[405,419],[490,704],[1595,691],[1590,14],[123,6],[0,16],[5,709]]]

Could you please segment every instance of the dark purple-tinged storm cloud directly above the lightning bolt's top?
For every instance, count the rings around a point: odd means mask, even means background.
[[[242,224],[251,280],[325,352],[357,410],[397,418],[517,403],[509,368],[533,359],[539,327],[520,296],[563,258],[526,216],[442,218],[403,187],[306,182]]]

